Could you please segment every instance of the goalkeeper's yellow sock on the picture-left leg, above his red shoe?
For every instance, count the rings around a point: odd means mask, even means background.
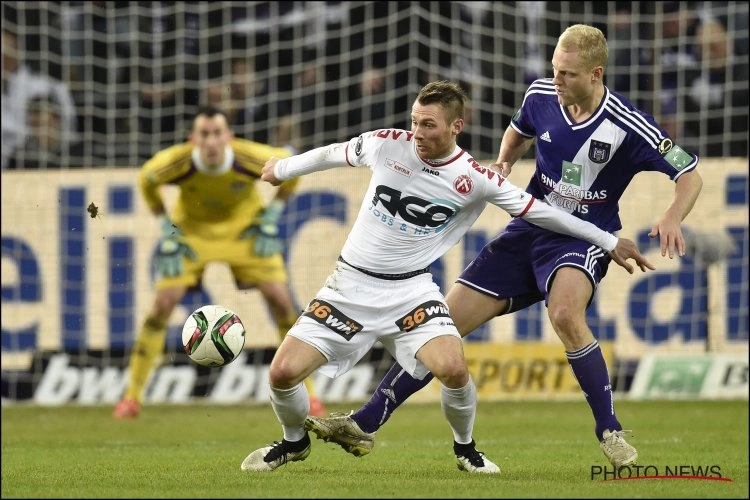
[[[138,332],[138,338],[130,354],[130,376],[125,397],[141,402],[143,390],[156,360],[164,351],[164,340],[167,337],[166,322],[146,319]]]

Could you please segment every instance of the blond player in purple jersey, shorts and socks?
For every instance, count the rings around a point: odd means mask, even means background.
[[[607,40],[585,25],[569,27],[552,57],[553,78],[531,84],[505,131],[493,168],[508,176],[536,139],[536,170],[526,188],[560,212],[621,229],[618,201],[639,172],[655,171],[675,182],[675,195],[649,236],[661,254],[685,254],[681,221],[703,181],[698,158],[677,146],[654,121],[604,85]],[[544,300],[573,373],[594,415],[600,448],[615,467],[632,464],[636,449],[625,439],[614,409],[607,365],[586,324],[586,309],[607,273],[610,257],[576,237],[512,220],[469,264],[446,295],[453,321],[466,336],[495,316]],[[415,380],[398,363],[369,401],[351,415],[310,417],[306,427],[362,456],[374,433],[411,394],[431,380]]]

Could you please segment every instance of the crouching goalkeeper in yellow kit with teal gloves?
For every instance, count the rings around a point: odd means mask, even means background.
[[[115,418],[135,418],[141,411],[149,375],[164,350],[167,322],[185,293],[201,283],[209,262],[225,262],[240,289],[257,288],[268,304],[283,338],[299,311],[292,304],[281,255],[277,221],[298,179],[279,186],[263,206],[255,187],[263,164],[293,151],[234,137],[226,114],[204,107],[196,113],[190,141],[158,152],[141,169],[139,186],[159,220],[156,298],[130,357],[128,387],[115,406]],[[160,188],[180,192],[166,212]],[[310,379],[310,414],[325,415]]]

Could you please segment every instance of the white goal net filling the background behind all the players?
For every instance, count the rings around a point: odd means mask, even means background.
[[[421,86],[454,80],[470,96],[459,144],[491,161],[528,85],[551,76],[557,36],[576,23],[604,31],[605,83],[696,152],[706,181],[685,221],[703,243],[669,262],[647,234],[673,184],[644,175],[629,188],[622,235],[637,240],[659,269],[629,276],[610,268],[589,310],[592,330],[612,344],[623,378],[651,351],[746,353],[745,2],[8,1],[3,397],[29,398],[54,381],[59,401],[119,397],[126,354],[153,300],[158,241],[135,188],[137,168],[186,139],[199,105],[224,109],[239,137],[306,150],[367,130],[408,129]],[[532,149],[519,173],[531,171],[533,158]],[[527,174],[515,175],[525,185]],[[281,231],[299,304],[330,272],[367,181],[338,171],[305,178],[287,208]],[[96,218],[86,213],[91,202],[100,209]],[[508,221],[487,212],[433,266],[443,290]],[[177,371],[151,397],[179,399],[180,325],[213,301],[251,318],[247,346],[260,354],[232,369],[257,368],[255,385],[242,394],[256,391],[261,400],[261,368],[278,343],[268,311],[257,293],[238,292],[220,265],[205,282],[170,320],[165,365]],[[559,342],[543,304],[498,318],[468,341]],[[376,370],[390,363],[381,354]],[[61,378],[45,380],[49,373]],[[198,373],[185,389],[190,395],[239,384]],[[70,384],[68,393],[60,381]],[[369,394],[367,384],[349,385],[359,387],[356,397]]]

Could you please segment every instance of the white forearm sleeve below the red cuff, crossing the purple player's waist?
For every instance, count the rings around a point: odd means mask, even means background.
[[[542,200],[534,199],[521,217],[534,225],[556,233],[567,234],[586,240],[611,252],[617,246],[617,236],[599,229],[594,224],[581,220],[567,212],[553,208]]]

